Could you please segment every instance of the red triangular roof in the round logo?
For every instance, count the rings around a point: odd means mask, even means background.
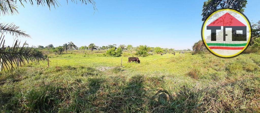
[[[238,19],[226,13],[207,26],[246,26]]]

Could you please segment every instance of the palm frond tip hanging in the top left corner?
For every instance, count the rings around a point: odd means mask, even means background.
[[[17,5],[12,0],[0,0],[0,15],[10,15],[18,13]]]

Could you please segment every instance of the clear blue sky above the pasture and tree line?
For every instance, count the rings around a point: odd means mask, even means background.
[[[72,41],[76,46],[131,44],[178,50],[191,48],[201,39],[204,1],[95,0],[95,13],[90,4],[67,5],[63,1],[51,11],[26,4],[25,8],[19,6],[19,14],[1,16],[0,21],[20,26],[31,39],[18,39],[30,46],[60,46]],[[259,0],[248,0],[244,14],[251,22],[260,20],[259,4]],[[16,38],[5,37],[7,45]]]

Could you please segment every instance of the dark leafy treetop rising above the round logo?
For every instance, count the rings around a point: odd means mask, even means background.
[[[202,21],[219,8],[233,8],[244,12],[247,0],[208,0],[204,2],[202,9]]]

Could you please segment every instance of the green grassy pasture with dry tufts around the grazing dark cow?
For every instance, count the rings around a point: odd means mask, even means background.
[[[68,51],[0,75],[1,112],[260,112],[260,54],[177,53],[127,63]],[[122,58],[122,67],[121,67]]]

